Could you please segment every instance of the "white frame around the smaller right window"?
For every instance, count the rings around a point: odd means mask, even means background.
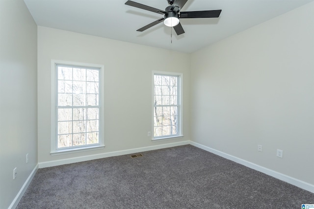
[[[178,76],[178,134],[168,135],[168,136],[154,136],[154,109],[155,109],[155,98],[154,98],[154,88],[155,88],[155,75],[165,75],[165,76]],[[152,140],[167,140],[176,139],[183,137],[183,73],[179,72],[167,72],[167,71],[152,71]]]

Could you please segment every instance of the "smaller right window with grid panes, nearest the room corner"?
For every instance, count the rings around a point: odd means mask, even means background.
[[[154,139],[182,136],[182,74],[154,72]]]

